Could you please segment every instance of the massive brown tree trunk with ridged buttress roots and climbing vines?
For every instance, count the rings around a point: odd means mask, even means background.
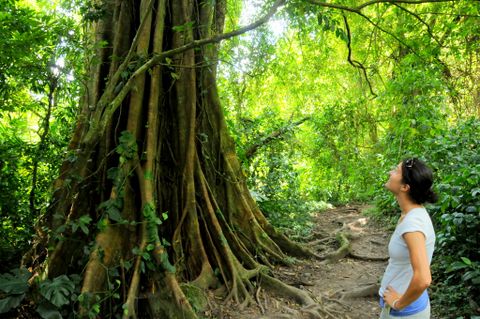
[[[105,5],[90,34],[107,45],[96,46],[89,64],[68,160],[42,220],[50,236],[39,227],[43,242],[30,255],[50,247],[48,258],[34,264],[51,278],[84,270],[84,296],[105,296],[112,271],[122,274],[126,318],[137,317],[138,303],[152,317],[195,318],[187,282],[225,285],[226,298],[248,303],[251,280],[262,277],[294,296],[269,268],[287,264],[285,253],[313,254],[277,233],[250,196],[217,94],[217,44],[138,72],[156,54],[221,34],[225,1]],[[88,228],[73,226],[81,223]],[[297,299],[311,302],[304,293]]]

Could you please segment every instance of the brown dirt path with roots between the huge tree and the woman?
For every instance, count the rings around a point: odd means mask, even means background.
[[[366,207],[341,207],[318,213],[314,236],[306,242],[319,255],[342,257],[331,263],[303,260],[293,267],[278,267],[275,276],[308,291],[319,306],[302,307],[293,301],[257,290],[257,304],[240,310],[227,304],[211,305],[207,318],[378,318],[378,282],[387,264],[390,233],[362,214]],[[346,234],[350,249],[340,255],[339,233]],[[347,254],[346,256],[344,256]],[[351,295],[356,295],[352,297]]]

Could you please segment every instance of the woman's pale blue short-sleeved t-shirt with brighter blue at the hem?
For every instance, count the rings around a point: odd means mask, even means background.
[[[404,294],[413,277],[410,253],[403,234],[410,232],[422,232],[425,235],[428,264],[430,265],[435,246],[435,231],[432,220],[425,208],[410,210],[404,219],[397,225],[388,243],[388,266],[383,274],[382,283],[378,291],[380,305],[383,307],[383,292],[387,286],[392,286],[398,293]],[[422,295],[401,311],[391,310],[392,316],[408,316],[424,310],[429,302],[428,293],[425,290]]]

